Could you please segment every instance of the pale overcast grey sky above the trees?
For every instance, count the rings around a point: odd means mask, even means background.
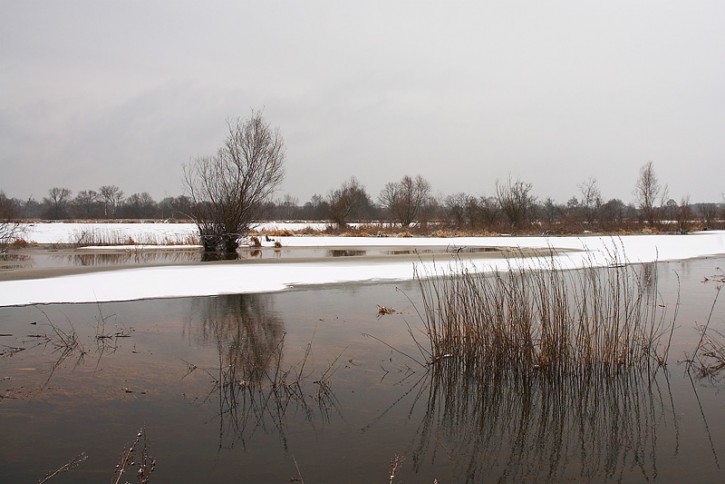
[[[564,202],[725,191],[725,2],[0,0],[0,190],[183,193],[182,165],[263,109],[277,196],[421,174]]]

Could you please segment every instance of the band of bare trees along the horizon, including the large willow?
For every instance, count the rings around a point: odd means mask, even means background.
[[[157,202],[146,192],[125,196],[115,185],[73,192],[53,187],[38,202],[9,199],[0,192],[0,248],[18,233],[19,219],[163,219],[196,224],[204,252],[236,253],[240,239],[256,222],[265,220],[327,221],[342,231],[351,222],[386,222],[405,230],[453,233],[581,233],[678,230],[723,226],[723,207],[714,203],[678,203],[669,198],[652,162],[640,169],[634,183],[636,205],[602,197],[597,180],[578,185],[566,204],[539,199],[533,185],[511,176],[496,181],[491,195],[456,193],[435,197],[428,180],[406,175],[385,184],[373,200],[357,178],[351,177],[326,196],[304,205],[290,195],[272,200],[285,175],[286,147],[279,129],[261,111],[227,121],[224,143],[216,153],[184,165],[188,196]]]

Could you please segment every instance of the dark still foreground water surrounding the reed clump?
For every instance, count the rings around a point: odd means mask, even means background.
[[[723,264],[642,267],[669,364],[607,385],[430,371],[413,282],[0,308],[0,481],[112,481],[141,428],[152,482],[722,481],[723,387],[682,361]]]

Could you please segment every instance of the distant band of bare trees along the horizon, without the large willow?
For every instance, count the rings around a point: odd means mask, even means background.
[[[605,200],[597,180],[589,178],[566,203],[533,195],[533,185],[509,178],[499,181],[490,195],[455,193],[434,197],[431,184],[418,175],[387,183],[376,198],[352,177],[327,195],[315,194],[305,203],[285,195],[260,199],[255,220],[329,222],[344,229],[351,222],[391,222],[425,228],[431,222],[453,231],[507,233],[572,233],[641,230],[643,227],[686,232],[691,228],[723,227],[723,203],[690,203],[669,197],[645,164],[634,183],[636,203]],[[41,201],[8,198],[0,192],[0,220],[190,220],[199,203],[190,196],[156,201],[146,192],[126,196],[115,185],[82,190],[53,187]]]

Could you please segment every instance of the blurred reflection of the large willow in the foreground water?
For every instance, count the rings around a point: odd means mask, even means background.
[[[214,373],[214,387],[207,396],[218,398],[219,446],[233,447],[237,442],[246,447],[256,431],[276,431],[286,449],[286,414],[302,411],[312,422],[315,400],[323,420],[336,408],[326,375],[308,388],[305,363],[311,344],[302,362],[282,368],[284,356],[284,323],[269,306],[269,295],[240,294],[204,300],[201,339],[216,344],[219,365]]]

